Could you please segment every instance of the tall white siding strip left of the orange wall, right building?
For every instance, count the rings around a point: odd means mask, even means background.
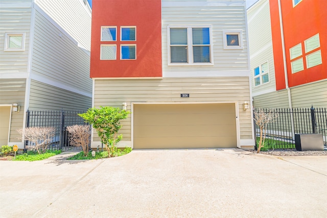
[[[248,9],[247,20],[252,95],[256,96],[276,90],[269,2],[259,1]],[[269,83],[254,86],[253,69],[265,62],[268,62],[269,66]]]

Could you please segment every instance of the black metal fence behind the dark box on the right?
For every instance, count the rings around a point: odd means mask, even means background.
[[[295,134],[322,134],[324,147],[327,147],[327,110],[326,108],[277,108],[262,109],[277,114],[274,122],[268,123],[266,140],[269,148],[295,148]],[[292,125],[293,123],[293,125]],[[255,136],[260,136],[260,128],[254,122]]]

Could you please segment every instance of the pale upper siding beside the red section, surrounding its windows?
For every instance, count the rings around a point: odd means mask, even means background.
[[[187,2],[187,3],[186,3]],[[167,26],[212,25],[214,66],[168,66]],[[243,32],[242,50],[223,49],[223,31]],[[230,71],[248,70],[244,1],[171,1],[162,0],[162,70]]]

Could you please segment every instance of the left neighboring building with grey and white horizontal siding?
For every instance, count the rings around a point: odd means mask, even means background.
[[[83,0],[0,0],[0,146],[24,143],[27,110],[86,110],[91,9]]]

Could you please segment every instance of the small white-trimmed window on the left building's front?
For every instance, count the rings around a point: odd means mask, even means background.
[[[4,51],[24,51],[25,33],[5,33]]]

